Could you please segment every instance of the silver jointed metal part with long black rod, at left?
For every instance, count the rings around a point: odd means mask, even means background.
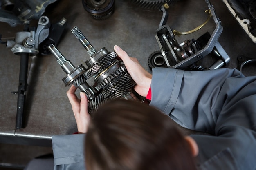
[[[7,48],[20,56],[20,74],[19,85],[17,92],[17,113],[16,113],[16,128],[24,128],[25,126],[25,99],[27,91],[27,72],[29,55],[36,55],[38,53],[38,45],[47,38],[49,33],[49,19],[46,16],[39,18],[36,31],[29,29],[29,22],[24,22],[23,31],[16,33],[15,40],[7,40],[2,44],[6,44]],[[2,41],[1,41],[2,42]]]

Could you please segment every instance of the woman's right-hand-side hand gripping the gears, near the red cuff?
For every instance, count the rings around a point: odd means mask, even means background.
[[[117,53],[117,55],[121,58],[121,60],[123,60],[127,71],[132,76],[132,79],[136,82],[134,90],[139,95],[146,97],[146,95],[148,94],[148,90],[150,88],[152,75],[148,73],[141,66],[141,64],[139,64],[137,58],[129,57],[128,54],[119,46],[115,45],[114,50]]]

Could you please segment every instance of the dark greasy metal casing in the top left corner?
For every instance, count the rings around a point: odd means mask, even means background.
[[[1,0],[0,21],[10,26],[17,26],[32,19],[38,20],[45,12],[45,8],[56,0]],[[5,3],[3,3],[5,2]],[[3,4],[2,4],[3,3]],[[5,5],[4,5],[5,4]]]

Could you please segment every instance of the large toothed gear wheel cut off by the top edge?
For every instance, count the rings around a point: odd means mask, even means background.
[[[174,4],[178,0],[131,0],[132,3],[146,9],[160,9],[163,4]]]

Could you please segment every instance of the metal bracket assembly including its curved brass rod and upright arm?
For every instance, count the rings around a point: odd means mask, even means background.
[[[215,44],[218,42],[218,38],[220,37],[220,34],[222,32],[222,24],[219,18],[216,16],[214,8],[210,4],[210,2],[208,0],[205,0],[205,2],[208,7],[205,12],[209,14],[207,20],[195,29],[184,33],[175,31],[174,29],[166,25],[168,12],[166,8],[161,7],[161,11],[164,12],[162,20],[159,24],[160,27],[159,29],[157,29],[155,37],[168,67],[179,69],[189,68],[193,63],[197,62],[198,60],[211,53]],[[197,31],[208,22],[210,16],[212,16],[216,24],[216,28],[214,29],[212,35],[204,46],[200,46],[200,44],[198,44],[198,42],[194,39],[186,40],[181,43],[177,42],[177,40],[175,39],[175,35],[185,35],[187,33],[193,33],[194,31]]]

